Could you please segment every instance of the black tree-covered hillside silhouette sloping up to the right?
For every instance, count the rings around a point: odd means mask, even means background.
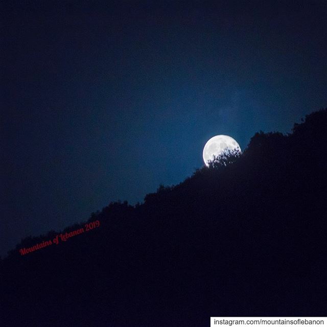
[[[100,227],[1,261],[2,326],[208,326],[210,316],[327,313],[327,109],[256,133]],[[221,164],[223,162],[223,164]],[[62,233],[82,228],[67,227]]]

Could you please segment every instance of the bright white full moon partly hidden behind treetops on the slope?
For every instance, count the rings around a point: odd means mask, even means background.
[[[240,145],[236,140],[228,135],[216,135],[209,139],[203,148],[204,164],[209,166],[208,160],[212,160],[214,155],[218,156],[226,149],[241,151]]]

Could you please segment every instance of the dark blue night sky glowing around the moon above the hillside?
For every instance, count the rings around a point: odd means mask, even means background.
[[[0,254],[142,202],[327,104],[326,2],[2,3]]]

